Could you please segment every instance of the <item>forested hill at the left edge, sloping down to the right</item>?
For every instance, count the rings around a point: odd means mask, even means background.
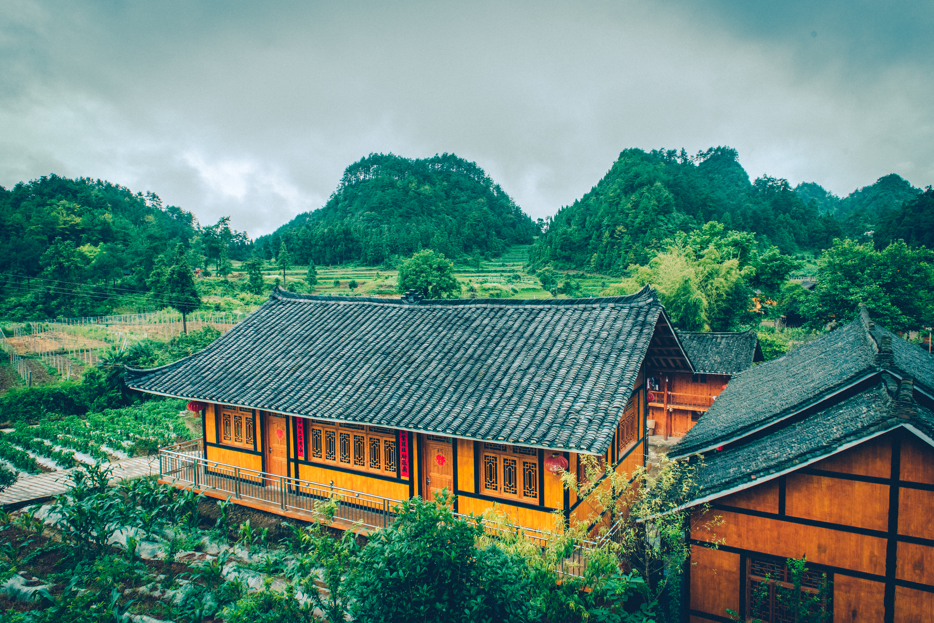
[[[0,313],[7,317],[109,313],[115,299],[149,291],[158,256],[181,243],[192,268],[246,257],[246,232],[222,218],[202,227],[151,192],[58,175],[0,187]]]

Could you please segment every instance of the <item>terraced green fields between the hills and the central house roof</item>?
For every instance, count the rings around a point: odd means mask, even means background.
[[[495,260],[480,262],[478,266],[455,264],[454,272],[463,287],[463,298],[551,298],[551,294],[542,289],[538,279],[529,274],[528,249],[526,245],[514,246],[502,257]],[[267,262],[272,264],[272,262]],[[305,283],[307,267],[297,266],[286,271],[285,286],[295,288],[296,292],[309,292]],[[331,296],[362,296],[362,297],[398,297],[398,281],[396,270],[385,270],[378,267],[366,266],[317,266],[318,284],[314,293]],[[233,278],[242,278],[239,262],[234,263]],[[583,296],[599,296],[607,286],[619,283],[618,278],[599,274],[584,274],[571,271],[573,280],[582,285]],[[274,284],[276,278],[280,284],[281,271],[266,270],[267,284]],[[218,278],[209,277],[208,280],[219,281]],[[563,277],[562,277],[563,279]],[[351,289],[350,282],[356,282],[357,287]],[[564,295],[559,295],[564,298]]]

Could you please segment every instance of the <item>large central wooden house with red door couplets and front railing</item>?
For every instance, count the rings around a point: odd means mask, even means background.
[[[129,368],[126,382],[201,403],[203,438],[161,450],[166,481],[296,517],[336,494],[356,513],[338,517],[370,526],[447,489],[461,513],[500,503],[550,529],[555,510],[592,510],[560,467],[581,472],[587,454],[604,469],[643,464],[644,359],[659,340],[693,371],[647,287],[554,300],[276,290],[204,351]]]

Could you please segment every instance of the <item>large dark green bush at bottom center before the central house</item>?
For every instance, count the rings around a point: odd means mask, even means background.
[[[405,500],[397,519],[371,533],[349,578],[350,613],[369,621],[523,621],[531,588],[525,564],[478,549],[479,519],[454,517],[452,496]]]

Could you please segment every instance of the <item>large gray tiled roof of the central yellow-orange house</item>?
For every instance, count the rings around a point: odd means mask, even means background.
[[[276,291],[204,351],[125,378],[143,392],[602,453],[661,313],[648,287],[417,303]]]

